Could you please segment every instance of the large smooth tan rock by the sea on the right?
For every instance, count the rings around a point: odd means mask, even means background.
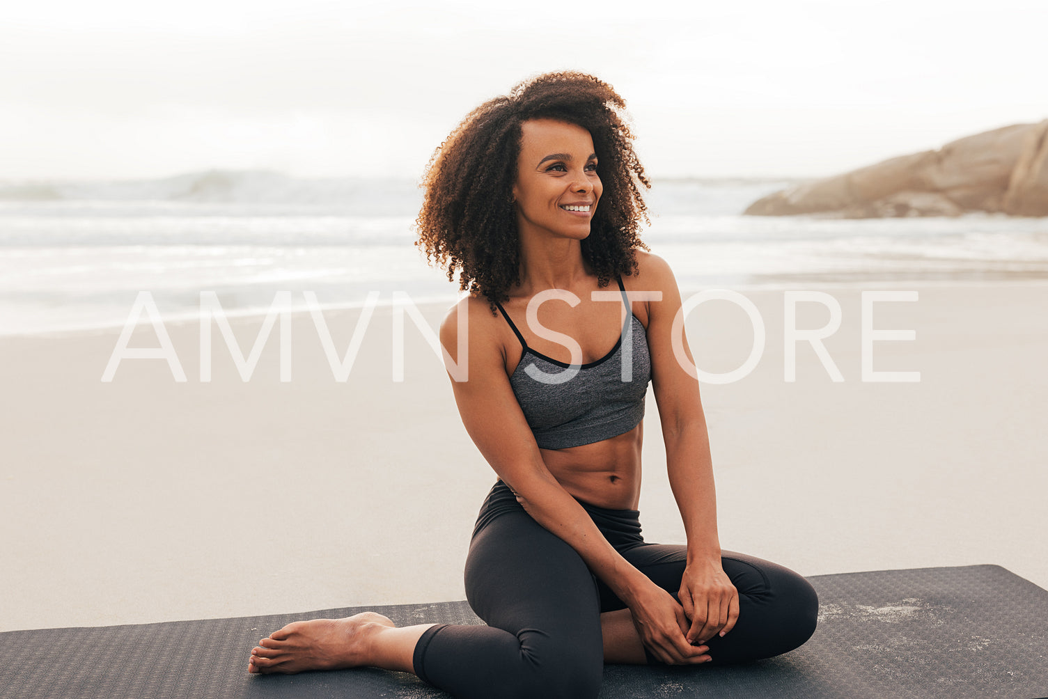
[[[1048,216],[1048,119],[966,136],[758,199],[750,216]]]

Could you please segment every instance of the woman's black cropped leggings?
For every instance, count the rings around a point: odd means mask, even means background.
[[[627,561],[676,597],[684,546],[646,544],[637,510],[580,504]],[[818,599],[806,580],[730,551],[721,563],[739,591],[739,619],[727,635],[707,642],[711,663],[771,657],[811,636]],[[415,674],[464,698],[597,696],[601,613],[626,605],[571,546],[531,519],[501,481],[477,519],[465,590],[487,626],[431,627],[415,647]]]

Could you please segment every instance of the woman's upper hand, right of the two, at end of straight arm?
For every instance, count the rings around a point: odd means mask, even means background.
[[[721,567],[720,556],[689,563],[677,596],[692,620],[685,630],[687,642],[705,643],[735,628],[739,618],[739,591]]]

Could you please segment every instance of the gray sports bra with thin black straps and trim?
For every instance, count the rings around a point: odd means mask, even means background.
[[[621,279],[618,288],[629,309]],[[502,304],[495,305],[524,348],[509,385],[540,447],[591,444],[637,427],[645,416],[651,356],[648,333],[636,315],[630,314],[606,355],[570,365],[528,347]]]

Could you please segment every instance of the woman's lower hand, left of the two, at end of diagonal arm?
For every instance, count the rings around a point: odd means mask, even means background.
[[[640,641],[652,655],[668,665],[697,664],[709,660],[705,646],[684,639],[687,618],[684,609],[669,592],[654,583],[633,595],[630,612]]]

